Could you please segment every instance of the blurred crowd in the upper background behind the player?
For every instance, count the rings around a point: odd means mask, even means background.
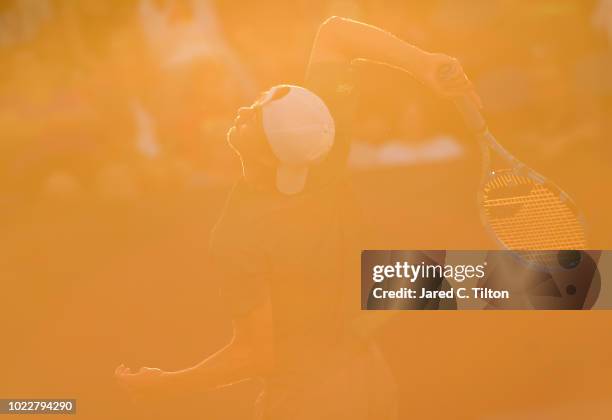
[[[29,200],[227,185],[239,170],[224,141],[235,109],[271,84],[299,83],[317,26],[332,14],[459,57],[519,155],[602,156],[611,3],[6,0],[2,189]],[[447,104],[409,77],[376,66],[362,76],[362,146],[408,147],[457,130]]]

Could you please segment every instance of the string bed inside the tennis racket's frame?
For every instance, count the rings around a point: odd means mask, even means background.
[[[484,215],[498,239],[513,250],[584,249],[586,235],[559,194],[530,178],[498,175],[485,184]],[[537,260],[546,253],[533,253]]]

